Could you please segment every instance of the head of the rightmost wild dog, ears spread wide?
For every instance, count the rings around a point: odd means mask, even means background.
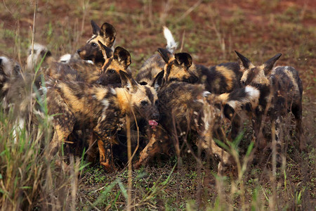
[[[243,72],[242,78],[240,79],[240,83],[243,87],[251,85],[252,87],[261,89],[261,87],[270,85],[269,75],[277,60],[282,56],[281,53],[277,53],[277,55],[267,60],[263,65],[255,66],[248,58],[242,56],[241,53],[235,52],[239,57],[240,70]]]

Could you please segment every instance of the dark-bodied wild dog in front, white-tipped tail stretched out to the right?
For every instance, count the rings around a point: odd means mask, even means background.
[[[222,148],[219,148],[213,141],[213,132],[220,127],[222,120],[222,111],[220,108],[224,104],[229,104],[236,109],[244,103],[256,103],[259,92],[253,87],[235,89],[230,94],[215,95],[205,91],[202,84],[191,84],[189,68],[192,65],[192,58],[187,53],[176,53],[175,57],[169,60],[169,63],[175,63],[176,70],[166,64],[162,73],[159,73],[162,79],[162,86],[158,91],[160,124],[169,134],[169,139],[178,139],[181,134],[186,134],[188,130],[193,136],[197,137],[195,143],[202,146],[210,154],[216,155],[220,162],[218,172],[223,170],[223,166],[232,164],[230,155]],[[189,74],[182,75],[176,79],[178,69],[186,69]],[[162,76],[163,75],[163,76]],[[170,78],[169,78],[170,77]],[[192,79],[195,79],[193,77]],[[159,130],[159,135],[162,131]],[[157,148],[161,146],[162,139],[159,136],[152,136],[150,143],[140,153],[140,160],[136,162],[135,167],[145,165],[146,162],[157,153]],[[176,145],[175,145],[176,146]],[[180,148],[176,148],[178,158],[180,158]]]

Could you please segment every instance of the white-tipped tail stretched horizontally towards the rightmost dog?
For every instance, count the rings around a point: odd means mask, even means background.
[[[220,94],[216,97],[216,101],[221,104],[228,104],[234,110],[239,109],[246,103],[257,105],[260,91],[255,87],[246,86],[244,88],[235,89],[230,93]]]

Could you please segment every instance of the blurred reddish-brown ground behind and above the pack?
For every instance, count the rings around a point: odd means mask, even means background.
[[[235,61],[234,50],[253,63],[282,53],[278,64],[297,68],[304,75],[305,91],[315,87],[316,1],[4,0],[1,54],[24,62],[37,2],[34,39],[55,56],[74,53],[85,44],[92,35],[90,20],[107,22],[117,29],[116,45],[131,52],[131,67],[137,72],[148,56],[166,45],[166,25],[179,43],[178,51],[190,53],[195,63]]]

